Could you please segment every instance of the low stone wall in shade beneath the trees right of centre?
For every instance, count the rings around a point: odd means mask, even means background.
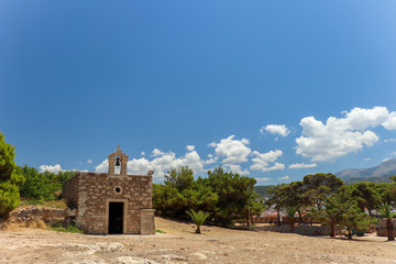
[[[289,224],[255,227],[255,230],[290,233]],[[338,229],[336,228],[336,233]],[[330,235],[329,226],[295,226],[295,233],[302,235]]]

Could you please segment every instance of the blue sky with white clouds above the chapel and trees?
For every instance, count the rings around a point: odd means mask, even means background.
[[[396,157],[395,1],[0,1],[16,163],[223,166],[260,185]],[[332,117],[332,118],[331,118]],[[330,118],[330,119],[329,119]],[[329,120],[328,120],[329,119]]]

